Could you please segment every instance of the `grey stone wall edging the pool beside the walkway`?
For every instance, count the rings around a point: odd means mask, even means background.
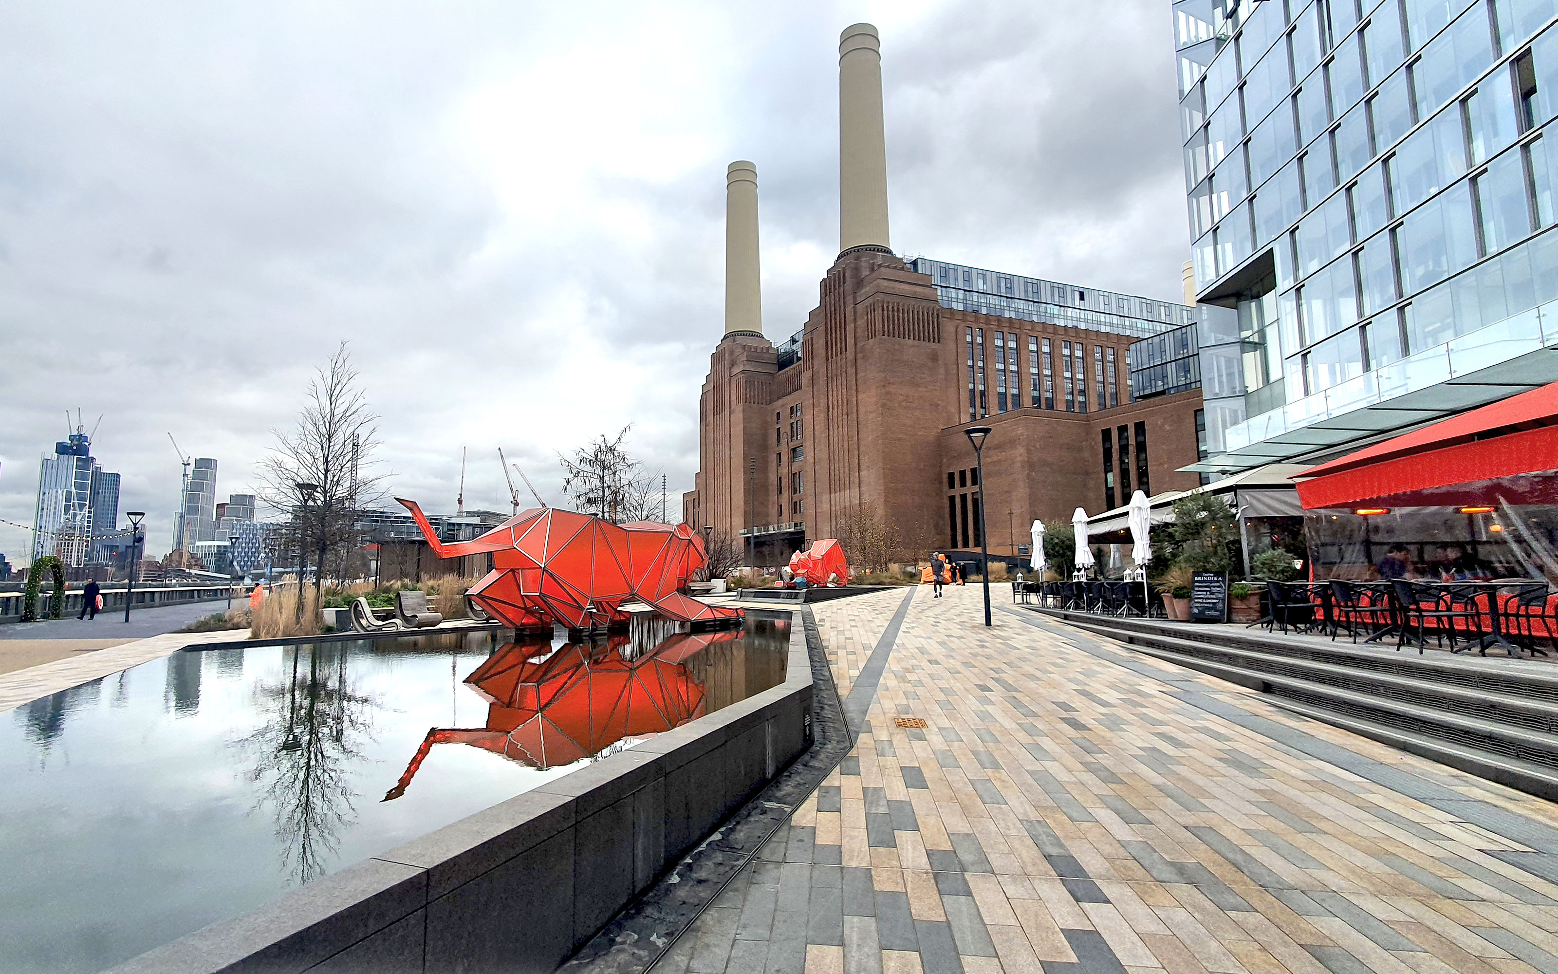
[[[112,968],[552,971],[810,746],[799,611],[785,681],[259,910]]]

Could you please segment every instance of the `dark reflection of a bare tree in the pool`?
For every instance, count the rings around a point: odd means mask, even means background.
[[[259,804],[276,815],[282,868],[301,885],[329,868],[355,818],[347,768],[361,759],[355,740],[372,729],[379,704],[347,684],[344,645],[291,647],[290,656],[288,678],[256,687],[271,718],[241,745],[254,760],[249,779],[263,785]]]

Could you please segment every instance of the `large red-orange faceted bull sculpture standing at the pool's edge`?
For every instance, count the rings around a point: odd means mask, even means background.
[[[681,589],[706,561],[703,538],[686,524],[611,524],[594,514],[531,508],[472,541],[444,544],[414,500],[396,499],[439,558],[492,555],[495,566],[466,595],[516,630],[625,625],[622,603],[639,600],[678,622],[742,619]]]

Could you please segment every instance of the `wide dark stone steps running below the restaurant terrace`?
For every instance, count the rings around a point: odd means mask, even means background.
[[[1033,606],[1028,606],[1033,608]],[[1354,645],[1343,634],[1112,619],[1033,608],[1270,695],[1273,704],[1558,801],[1558,664]],[[1432,645],[1432,644],[1430,644]]]

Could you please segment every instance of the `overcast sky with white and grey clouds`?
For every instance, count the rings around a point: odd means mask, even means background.
[[[724,167],[759,170],[763,321],[838,249],[837,44],[880,28],[901,254],[1179,298],[1167,0],[0,2],[0,519],[81,410],[170,547],[337,341],[396,494],[508,510],[502,446],[634,424],[676,496],[721,333]],[[0,525],[0,552],[30,535]]]

